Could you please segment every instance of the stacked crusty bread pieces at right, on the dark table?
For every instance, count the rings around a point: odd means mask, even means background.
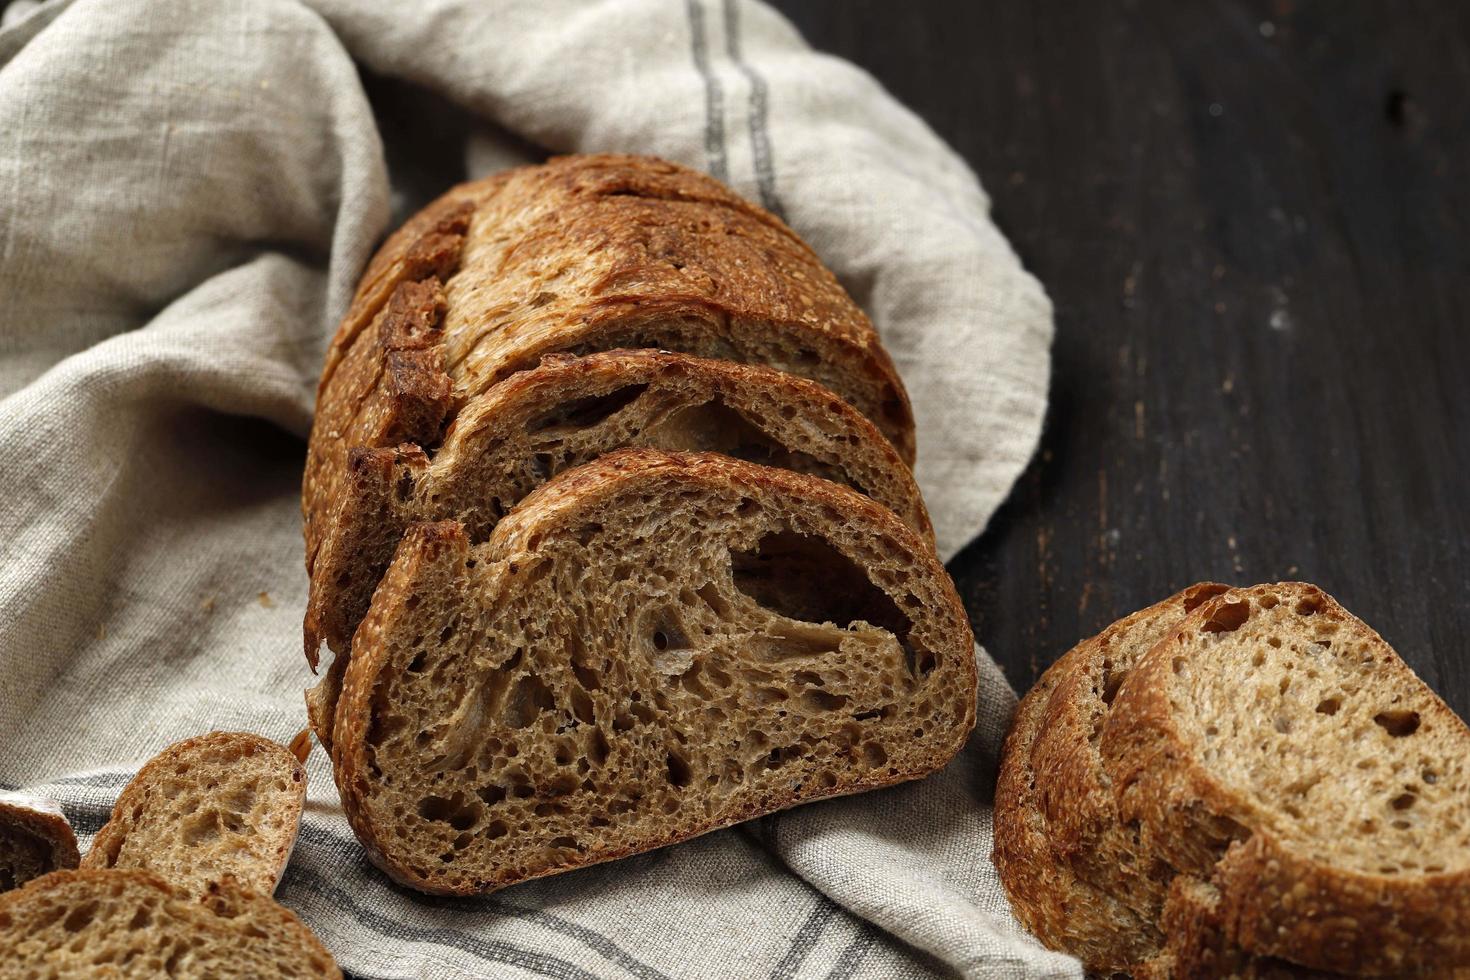
[[[1467,758],[1320,589],[1192,586],[1023,699],[995,860],[1023,924],[1100,973],[1461,976]]]

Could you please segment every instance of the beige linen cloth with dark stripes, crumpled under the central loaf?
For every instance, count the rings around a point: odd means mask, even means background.
[[[945,557],[979,533],[1038,438],[1051,307],[969,167],[773,10],[18,0],[0,785],[56,798],[85,846],[166,743],[304,726],[304,436],[365,262],[454,179],[595,150],[703,167],[811,242],[907,382]],[[978,657],[973,741],[929,780],[481,899],[373,870],[315,752],[278,898],[370,977],[1080,976],[989,861],[1014,695]]]

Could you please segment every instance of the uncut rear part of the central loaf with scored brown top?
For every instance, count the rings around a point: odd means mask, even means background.
[[[778,217],[663,160],[560,157],[451,190],[369,267],[318,392],[309,570],[353,450],[432,448],[460,406],[545,354],[634,347],[817,381],[913,463],[876,331]]]

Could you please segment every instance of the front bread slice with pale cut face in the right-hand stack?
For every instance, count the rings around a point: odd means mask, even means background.
[[[1316,586],[1197,608],[1133,669],[1101,751],[1120,818],[1219,890],[1242,951],[1470,965],[1470,730]]]

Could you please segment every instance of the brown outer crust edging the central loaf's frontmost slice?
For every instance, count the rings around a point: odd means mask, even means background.
[[[392,702],[387,685],[398,676],[397,671],[404,670],[403,664],[390,661],[390,655],[395,651],[390,638],[397,623],[404,620],[423,597],[456,589],[459,576],[465,574],[467,566],[476,569],[475,574],[485,576],[478,586],[485,594],[506,588],[506,583],[517,574],[517,569],[526,570],[535,564],[535,552],[538,547],[544,547],[542,542],[559,533],[576,533],[576,529],[584,526],[579,516],[594,513],[594,508],[606,505],[609,513],[613,513],[623,505],[623,501],[634,500],[639,494],[659,492],[672,497],[679,492],[701,494],[706,488],[731,494],[738,491],[744,500],[757,507],[784,508],[782,513],[800,514],[800,520],[810,522],[813,527],[825,522],[839,536],[845,535],[853,541],[860,538],[864,542],[861,547],[876,550],[875,554],[903,555],[906,563],[922,569],[923,580],[911,580],[910,588],[931,598],[916,599],[910,595],[904,598],[904,605],[913,620],[913,635],[922,636],[923,644],[935,645],[938,666],[932,667],[933,673],[923,682],[926,685],[923,689],[944,692],[948,705],[944,708],[944,717],[948,718],[944,726],[928,732],[922,743],[904,745],[903,760],[897,758],[895,751],[895,758],[886,763],[888,768],[850,764],[835,773],[831,782],[797,788],[786,783],[785,789],[772,789],[760,798],[750,798],[734,811],[716,808],[711,811],[714,815],[709,818],[695,813],[688,817],[692,823],[685,830],[670,832],[667,824],[672,818],[669,818],[663,821],[662,830],[654,829],[659,824],[653,824],[641,832],[642,836],[635,842],[617,846],[600,845],[594,830],[588,836],[589,846],[575,858],[532,865],[476,867],[472,874],[459,868],[440,871],[440,867],[415,867],[413,843],[404,842],[395,833],[398,826],[390,815],[392,807],[378,802],[378,796],[388,792],[381,783],[385,761],[375,754],[369,738],[375,732],[382,705]],[[833,545],[839,547],[836,542]],[[856,554],[847,557],[858,560]],[[878,580],[873,580],[873,585],[883,588]],[[463,611],[470,613],[470,610]],[[456,636],[465,632],[467,630],[460,630]],[[442,645],[437,648],[440,655],[437,663],[442,663],[444,649]],[[469,651],[466,646],[453,657],[469,658]],[[425,671],[431,670],[438,667],[425,667]],[[664,846],[800,802],[920,777],[947,763],[963,745],[966,733],[975,723],[975,683],[973,639],[953,583],[928,544],[886,508],[817,478],[754,466],[717,454],[622,450],[553,479],[526,498],[495,527],[491,539],[473,551],[463,527],[456,523],[417,525],[410,530],[354,638],[353,658],[335,710],[332,758],[348,821],[379,867],[404,884],[422,890],[473,893]],[[457,696],[465,696],[465,692],[457,691]],[[385,698],[390,699],[384,701]],[[438,861],[434,864],[438,865]]]

